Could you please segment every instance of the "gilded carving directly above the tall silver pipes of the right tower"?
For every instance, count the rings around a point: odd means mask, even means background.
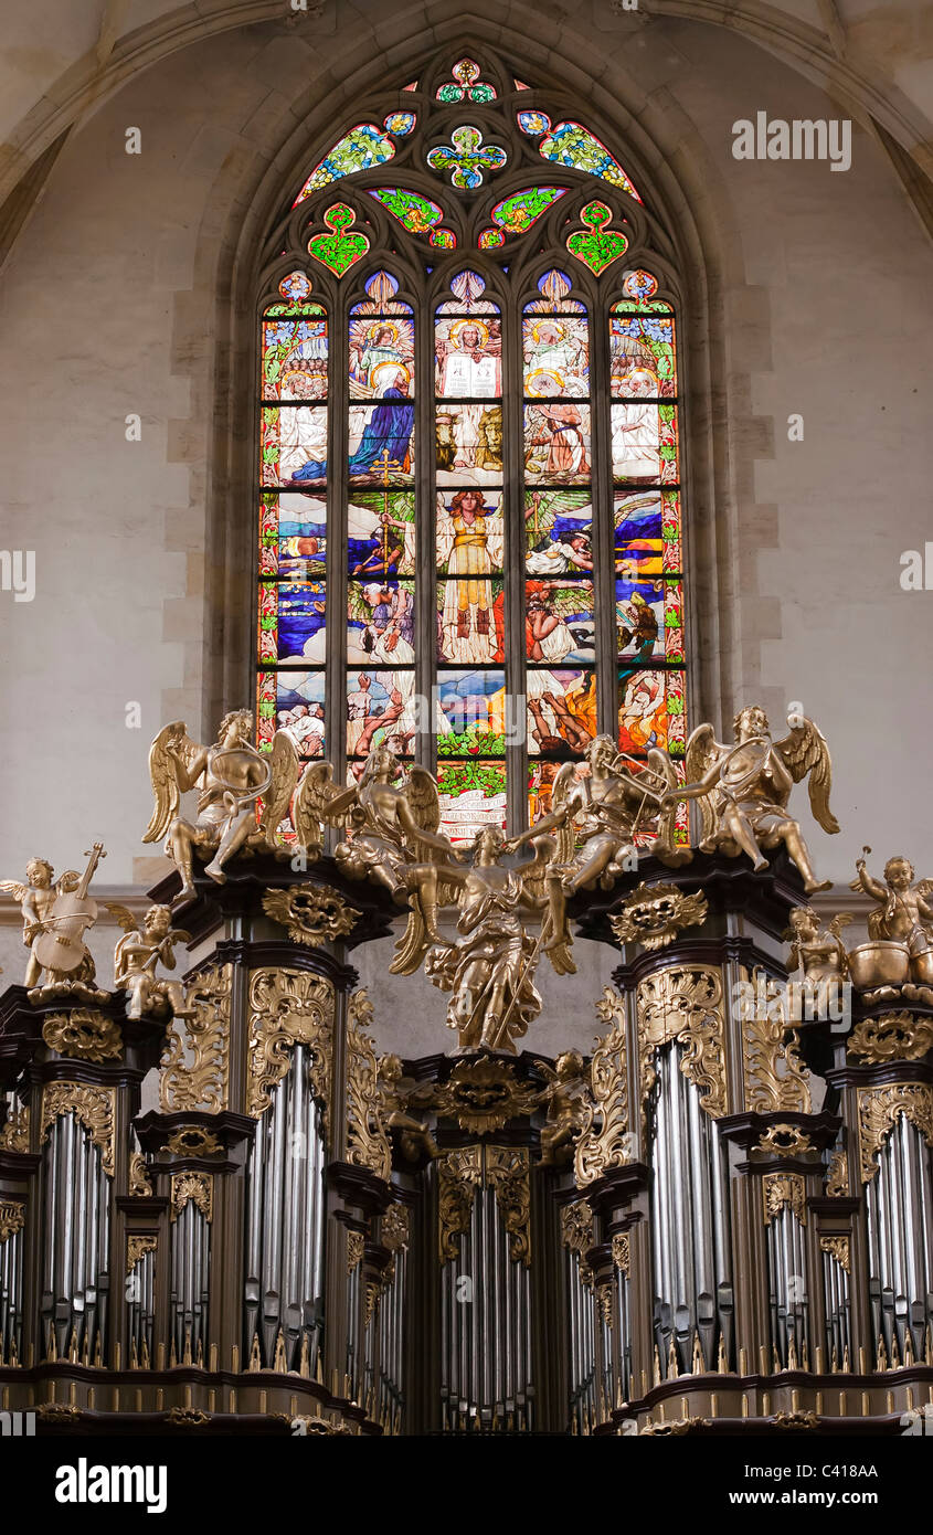
[[[641,1122],[657,1081],[655,1050],[674,1039],[686,1044],[680,1070],[700,1093],[700,1107],[718,1119],[726,1113],[723,982],[704,966],[671,966],[638,982],[638,1065]]]

